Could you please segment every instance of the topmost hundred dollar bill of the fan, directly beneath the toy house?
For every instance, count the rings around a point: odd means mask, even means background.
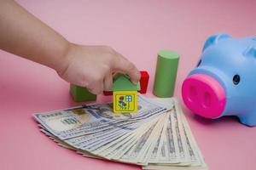
[[[129,122],[158,116],[168,108],[138,95],[137,113],[115,114],[111,104],[82,105],[79,107],[34,114],[34,118],[59,139],[71,139],[110,128],[125,128]]]

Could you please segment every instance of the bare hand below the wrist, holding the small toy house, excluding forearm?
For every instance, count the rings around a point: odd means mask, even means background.
[[[100,94],[112,87],[112,71],[128,74],[134,83],[140,79],[137,67],[107,46],[71,44],[61,65],[61,71],[57,71],[60,77],[88,88],[93,94]]]

